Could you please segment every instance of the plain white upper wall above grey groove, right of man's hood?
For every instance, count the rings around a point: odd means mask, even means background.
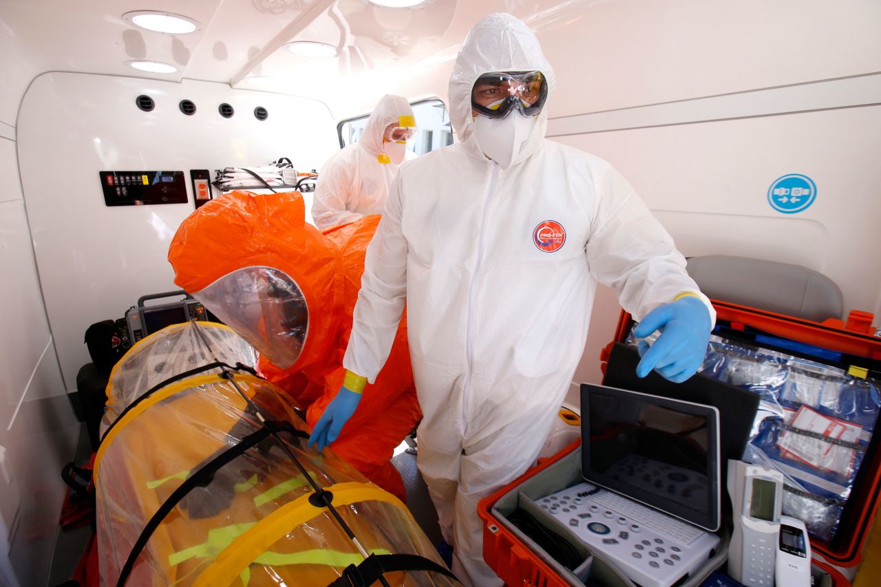
[[[881,71],[877,0],[564,5],[530,20],[557,73],[552,116]]]

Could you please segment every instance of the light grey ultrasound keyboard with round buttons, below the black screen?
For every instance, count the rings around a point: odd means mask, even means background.
[[[719,537],[589,483],[536,500],[642,587],[670,587],[707,562]]]

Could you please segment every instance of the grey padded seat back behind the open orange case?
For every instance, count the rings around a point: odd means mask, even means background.
[[[814,322],[843,317],[839,287],[822,273],[801,265],[745,256],[692,256],[688,273],[700,291],[714,300]]]

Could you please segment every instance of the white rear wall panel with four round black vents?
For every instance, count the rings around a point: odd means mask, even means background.
[[[139,94],[156,101],[149,113]],[[181,99],[196,103],[183,115]],[[235,108],[233,118],[218,105]],[[269,110],[258,121],[254,108]],[[88,362],[89,324],[122,317],[137,298],[175,289],[168,244],[187,204],[107,207],[101,170],[182,170],[263,165],[289,157],[320,167],[339,145],[335,121],[314,100],[139,78],[47,73],[22,103],[19,162],[49,324],[68,389]],[[206,262],[211,250],[205,250]]]

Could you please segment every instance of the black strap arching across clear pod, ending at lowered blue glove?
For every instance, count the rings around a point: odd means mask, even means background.
[[[141,531],[141,535],[137,537],[135,546],[131,547],[129,558],[126,559],[125,565],[122,567],[119,579],[116,581],[116,586],[122,587],[122,585],[125,584],[131,574],[131,569],[135,567],[137,557],[141,555],[141,552],[144,550],[144,546],[147,545],[147,541],[150,540],[153,531],[156,531],[159,524],[162,524],[162,521],[169,513],[171,513],[171,510],[174,509],[174,507],[177,506],[177,504],[180,503],[190,491],[196,487],[207,487],[214,479],[214,473],[218,472],[221,467],[230,463],[233,459],[241,457],[246,450],[263,442],[267,436],[279,432],[286,432],[294,438],[307,439],[309,437],[307,433],[293,427],[290,422],[268,420],[263,422],[263,427],[255,433],[245,436],[241,439],[241,442],[224,450],[217,457],[212,458],[211,461],[181,483],[181,487],[175,489],[174,492],[168,496],[168,499],[159,506],[156,513],[152,515],[150,521],[144,526],[144,530]]]

